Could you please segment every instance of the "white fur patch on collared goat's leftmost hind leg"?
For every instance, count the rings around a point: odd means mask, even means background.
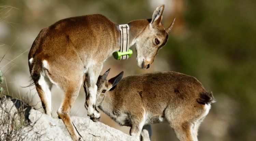
[[[40,74],[40,79],[38,80],[38,84],[41,86],[43,92],[44,92],[44,98],[46,100],[46,111],[47,115],[51,116],[51,107],[52,107],[52,94],[51,94],[51,89],[52,89],[52,83],[49,81],[49,79],[42,74]]]

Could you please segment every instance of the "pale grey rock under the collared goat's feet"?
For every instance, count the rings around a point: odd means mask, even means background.
[[[11,100],[5,100],[5,102],[12,105]],[[8,103],[5,103],[5,105]],[[2,103],[2,107],[5,107],[5,105]],[[0,112],[1,110],[2,109],[0,108]],[[17,119],[20,120],[20,118]],[[30,122],[26,126],[22,126],[17,132],[19,134],[18,140],[71,141],[68,130],[61,119],[51,118],[34,109],[30,110],[28,119]],[[132,136],[129,136],[115,128],[109,127],[101,122],[93,122],[87,117],[73,116],[71,119],[77,131],[85,141],[137,141],[136,138]],[[1,128],[4,127],[5,126],[2,126]],[[6,127],[3,131],[6,131],[7,129],[8,128]],[[3,137],[0,137],[0,140],[2,140]]]

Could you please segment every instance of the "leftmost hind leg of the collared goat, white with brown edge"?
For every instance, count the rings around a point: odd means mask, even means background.
[[[41,99],[44,112],[49,117],[52,117],[52,85],[53,84],[49,81],[49,79],[42,75],[40,76],[38,83],[35,84],[35,88],[37,89],[38,95]]]

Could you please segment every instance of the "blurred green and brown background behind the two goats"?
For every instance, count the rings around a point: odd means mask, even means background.
[[[256,139],[256,1],[255,0],[0,0],[0,69],[5,93],[37,108],[41,102],[30,84],[28,52],[40,30],[68,17],[102,14],[118,24],[152,17],[165,4],[162,23],[176,22],[167,44],[152,67],[140,69],[134,55],[128,60],[109,58],[103,74],[109,78],[156,71],[176,71],[196,77],[212,91],[217,102],[199,129],[202,141],[253,141]],[[124,65],[129,64],[129,65]],[[53,87],[52,113],[57,117],[63,92]],[[81,89],[71,114],[85,117]],[[42,111],[42,109],[39,109]],[[101,122],[129,134],[101,113]],[[177,141],[168,124],[153,125],[153,141]]]

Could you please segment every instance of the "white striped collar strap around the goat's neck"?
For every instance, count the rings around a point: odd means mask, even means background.
[[[121,24],[119,25],[119,30],[120,30],[120,40],[121,40],[121,45],[120,45],[120,52],[127,52],[129,49],[129,25],[128,24]],[[121,56],[120,60],[123,59],[128,59],[128,55],[123,55]]]

